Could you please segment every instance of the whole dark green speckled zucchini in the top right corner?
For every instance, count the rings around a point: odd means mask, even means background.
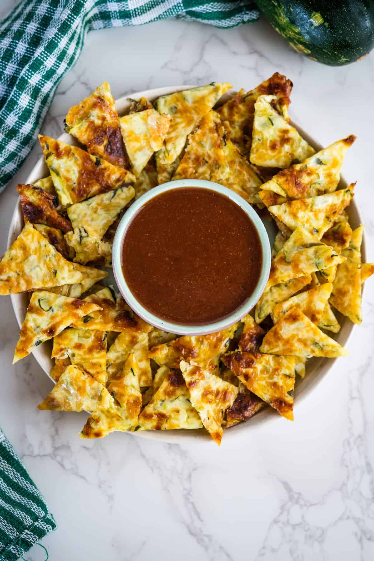
[[[374,47],[373,0],[256,0],[271,25],[313,61],[341,66]]]

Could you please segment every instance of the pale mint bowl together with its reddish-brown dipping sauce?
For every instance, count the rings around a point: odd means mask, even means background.
[[[142,319],[179,335],[205,335],[255,306],[271,249],[252,206],[218,183],[178,180],[142,195],[113,241],[113,272]]]

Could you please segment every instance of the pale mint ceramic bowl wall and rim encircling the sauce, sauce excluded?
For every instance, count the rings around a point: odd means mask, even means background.
[[[127,229],[130,226],[132,219],[142,208],[142,206],[144,206],[154,197],[166,191],[171,191],[181,187],[203,187],[205,189],[209,189],[211,191],[215,191],[216,193],[220,193],[221,195],[227,196],[230,200],[239,205],[241,209],[244,210],[244,212],[252,220],[252,223],[255,225],[255,228],[257,230],[258,237],[260,238],[262,249],[262,266],[260,278],[258,279],[255,290],[253,291],[252,295],[247,298],[247,300],[243,302],[243,304],[239,306],[232,314],[226,316],[223,319],[220,319],[219,321],[214,321],[213,323],[209,324],[178,325],[175,323],[171,323],[170,321],[158,318],[158,316],[152,314],[149,310],[142,306],[140,302],[136,300],[135,296],[133,296],[130,288],[128,287],[123,275],[122,247],[124,238],[126,237]],[[130,206],[130,209],[127,210],[126,214],[124,214],[121,222],[119,222],[118,224],[117,232],[114,236],[113,241],[113,272],[114,277],[116,278],[117,286],[124,300],[126,300],[131,309],[135,311],[138,316],[147,321],[147,323],[150,323],[151,325],[154,325],[159,329],[164,329],[165,331],[168,331],[170,333],[177,333],[179,335],[205,335],[207,333],[214,333],[216,331],[220,331],[221,329],[229,327],[229,325],[232,325],[239,319],[243,318],[243,316],[248,314],[248,312],[252,310],[252,308],[256,305],[256,302],[264,291],[267,279],[269,278],[270,264],[271,249],[269,237],[267,236],[265,226],[262,223],[262,220],[258,217],[256,211],[253,210],[252,206],[248,204],[240,195],[237,195],[234,191],[228,189],[227,187],[223,187],[222,185],[213,183],[212,181],[185,179],[170,181],[151,189],[150,191],[139,197],[139,199]]]

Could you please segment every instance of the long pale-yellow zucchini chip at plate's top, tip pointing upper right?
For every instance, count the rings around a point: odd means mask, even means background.
[[[156,100],[157,111],[172,117],[168,135],[158,156],[161,163],[174,162],[181,154],[190,132],[230,88],[231,84],[213,82],[200,88],[163,95]]]

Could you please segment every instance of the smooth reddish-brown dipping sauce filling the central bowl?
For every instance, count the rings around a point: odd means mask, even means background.
[[[176,188],[148,201],[124,237],[122,269],[133,296],[181,325],[230,315],[260,278],[262,249],[252,220],[228,197]]]

